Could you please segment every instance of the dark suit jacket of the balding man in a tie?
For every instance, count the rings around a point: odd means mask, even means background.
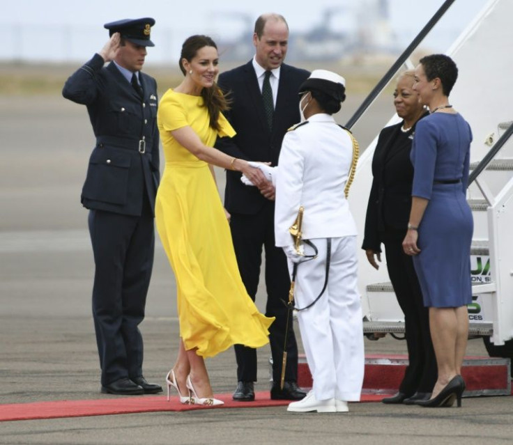
[[[298,92],[308,76],[307,70],[282,64],[273,131],[270,132],[252,61],[223,72],[218,84],[232,101],[231,109],[224,114],[237,134],[233,138],[218,139],[215,146],[233,157],[277,165],[286,131],[300,121]],[[255,214],[266,201],[268,199],[257,187],[240,182],[240,173],[227,171],[224,206],[229,212]]]

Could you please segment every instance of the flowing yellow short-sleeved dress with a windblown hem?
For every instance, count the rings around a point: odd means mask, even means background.
[[[181,146],[172,130],[189,125],[206,146],[217,134],[235,131],[220,114],[221,130],[210,127],[201,96],[162,96],[158,129],[165,168],[155,202],[160,240],[176,277],[180,335],[186,350],[213,357],[231,345],[259,348],[268,343],[274,318],[261,314],[238,272],[222,202],[208,164]]]

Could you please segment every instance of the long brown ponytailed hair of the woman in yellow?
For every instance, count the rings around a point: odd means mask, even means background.
[[[192,61],[192,59],[197,55],[199,49],[203,47],[214,47],[217,49],[215,42],[208,36],[190,36],[187,38],[187,40],[185,40],[185,42],[183,42],[180,61],[178,62],[183,75],[185,75],[185,68],[183,68],[182,60],[185,58],[185,60],[188,62]],[[204,107],[208,109],[208,116],[210,116],[210,127],[219,131],[220,126],[217,120],[219,120],[219,114],[221,111],[229,109],[227,98],[224,97],[220,88],[215,82],[213,86],[210,86],[209,88],[203,88],[201,90],[201,97],[203,97],[204,100]]]

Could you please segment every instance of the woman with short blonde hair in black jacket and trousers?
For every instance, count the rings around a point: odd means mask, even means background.
[[[413,70],[401,74],[394,92],[395,109],[402,122],[383,128],[379,134],[372,159],[374,179],[362,245],[369,263],[377,270],[384,244],[390,281],[404,313],[409,364],[399,392],[384,398],[383,403],[414,404],[416,400],[427,400],[437,377],[428,309],[422,302],[411,256],[402,248],[411,208],[411,144],[415,123],[427,114],[412,89],[413,75]]]

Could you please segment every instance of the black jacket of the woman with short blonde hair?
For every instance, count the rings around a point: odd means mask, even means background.
[[[372,158],[373,180],[362,249],[381,252],[385,231],[406,233],[411,210],[413,165],[410,152],[415,125],[404,136],[403,124],[404,121],[383,128],[378,137]]]

